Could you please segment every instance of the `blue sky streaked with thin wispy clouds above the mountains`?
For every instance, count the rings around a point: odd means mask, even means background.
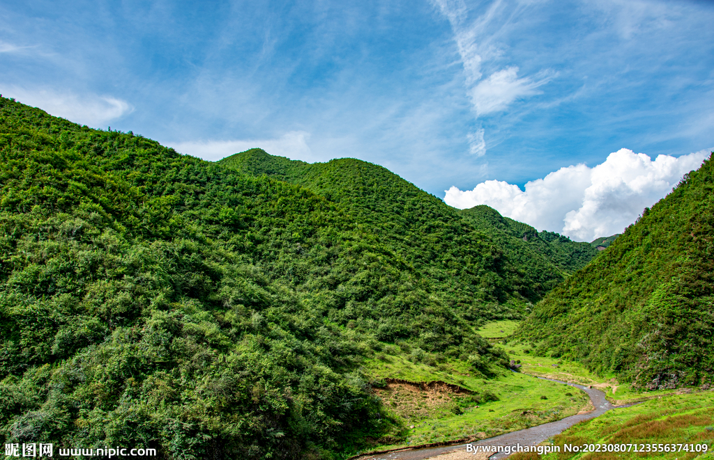
[[[713,147],[713,22],[685,0],[5,1],[0,93],[208,160],[523,190],[622,148]]]

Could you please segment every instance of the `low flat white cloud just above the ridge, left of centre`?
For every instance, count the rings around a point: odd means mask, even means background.
[[[309,138],[309,132],[290,131],[277,139],[166,142],[166,145],[174,147],[178,152],[208,161],[218,161],[234,153],[245,152],[258,147],[271,155],[311,162],[315,160],[313,159],[313,152],[307,143]]]

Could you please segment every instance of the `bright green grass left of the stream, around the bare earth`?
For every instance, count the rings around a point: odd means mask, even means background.
[[[381,353],[366,363],[366,372],[376,380],[387,377],[411,382],[441,380],[477,395],[491,393],[498,397],[498,401],[473,402],[469,397],[444,395],[440,404],[426,408],[426,400],[419,400],[426,398],[423,394],[388,394],[384,398],[388,407],[403,419],[408,431],[398,444],[376,446],[375,449],[453,441],[470,436],[492,437],[569,417],[589,404],[587,394],[574,388],[563,391],[563,385],[506,370],[492,379],[484,379],[474,375],[465,362],[458,360],[431,367],[413,363],[403,355]],[[384,392],[381,395],[384,397]],[[409,397],[411,400],[405,400]],[[461,413],[454,412],[457,406]]]

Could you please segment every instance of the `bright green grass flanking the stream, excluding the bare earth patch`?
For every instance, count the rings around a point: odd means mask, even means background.
[[[499,329],[500,330],[500,329]],[[504,329],[505,330],[505,329]],[[503,342],[503,340],[500,340]],[[451,399],[444,397],[441,404],[421,414],[404,413],[403,407],[393,407],[395,415],[401,417],[408,426],[406,437],[397,444],[384,444],[375,449],[390,449],[400,446],[416,446],[435,442],[452,441],[467,437],[493,437],[504,432],[551,422],[568,417],[583,409],[588,402],[583,392],[575,389],[563,391],[563,386],[554,382],[544,382],[534,376],[554,377],[558,380],[570,380],[584,385],[609,385],[616,387],[615,397],[618,402],[636,401],[649,397],[641,404],[632,407],[613,409],[597,419],[582,422],[560,434],[550,441],[557,445],[605,443],[605,444],[660,444],[660,443],[706,443],[711,451],[714,432],[707,427],[714,425],[714,392],[693,392],[691,394],[672,394],[669,392],[635,392],[626,385],[618,385],[611,377],[602,377],[588,372],[577,362],[562,362],[550,357],[535,357],[526,352],[528,347],[517,343],[503,345],[513,359],[518,358],[524,366],[523,373],[505,372],[503,375],[486,380],[470,375],[466,363],[461,361],[448,362],[439,367],[421,363],[413,363],[403,355],[386,355],[384,353],[367,362],[367,372],[372,377],[393,377],[414,382],[442,380],[460,385],[468,390],[483,394],[487,390],[498,397],[498,401],[471,404],[466,398]],[[396,349],[396,347],[395,347]],[[387,348],[388,351],[395,351]],[[560,362],[560,363],[559,363]],[[552,367],[557,364],[558,367]],[[567,393],[572,394],[570,397]],[[395,394],[398,398],[406,398],[404,393]],[[547,399],[541,399],[545,396]],[[391,401],[391,399],[390,399]],[[402,401],[403,402],[403,401]],[[476,407],[478,405],[478,407]],[[460,407],[461,414],[453,412],[454,407]],[[399,409],[402,409],[401,411]],[[526,412],[526,414],[524,414]],[[413,426],[413,428],[411,428]],[[619,455],[619,456],[618,456]],[[697,456],[698,455],[698,456]],[[579,459],[627,459],[627,458],[665,458],[665,459],[714,459],[707,454],[572,454],[563,451],[560,454],[550,454],[545,457],[524,456],[514,459],[549,460],[579,460]]]

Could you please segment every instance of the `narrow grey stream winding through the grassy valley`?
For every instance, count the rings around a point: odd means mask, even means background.
[[[516,444],[521,444],[521,446],[531,446],[534,444],[540,444],[550,437],[555,436],[565,429],[572,427],[578,422],[583,420],[594,419],[608,410],[613,409],[613,405],[605,399],[605,393],[600,390],[595,390],[595,388],[583,387],[583,385],[577,385],[575,383],[560,382],[560,380],[546,379],[544,377],[538,377],[543,380],[550,380],[550,382],[562,383],[563,385],[570,385],[570,387],[579,388],[584,392],[588,393],[590,396],[590,402],[593,403],[595,410],[587,412],[586,414],[575,414],[570,417],[565,417],[556,422],[549,422],[537,427],[531,427],[526,429],[518,430],[517,432],[510,432],[499,434],[496,437],[481,439],[481,441],[471,442],[473,446],[516,446]],[[361,459],[364,460],[423,460],[431,459],[431,457],[446,454],[451,451],[466,451],[466,444],[454,444],[452,446],[440,446],[440,447],[427,447],[423,449],[411,449],[404,451],[388,452],[386,454],[378,454],[371,456],[362,456]],[[490,457],[493,459],[504,459],[507,455],[504,452],[498,452]]]

